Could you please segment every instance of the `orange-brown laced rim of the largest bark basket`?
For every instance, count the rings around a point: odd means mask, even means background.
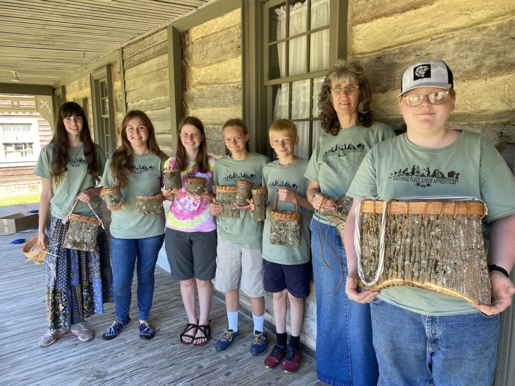
[[[363,200],[360,212],[383,213],[384,201]],[[477,201],[399,201],[391,200],[386,204],[387,215],[486,215],[486,206]]]

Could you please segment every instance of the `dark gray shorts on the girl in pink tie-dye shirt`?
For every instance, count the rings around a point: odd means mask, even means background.
[[[166,228],[164,247],[171,277],[187,280],[195,277],[211,280],[216,272],[216,230],[181,232]]]

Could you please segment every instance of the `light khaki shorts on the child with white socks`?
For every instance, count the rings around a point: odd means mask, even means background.
[[[245,249],[218,236],[215,288],[221,292],[242,290],[249,297],[265,296],[261,249]]]

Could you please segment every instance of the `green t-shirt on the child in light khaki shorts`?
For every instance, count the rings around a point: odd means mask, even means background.
[[[215,163],[213,186],[236,185],[238,180],[252,181],[252,186],[260,186],[263,180],[263,167],[270,162],[267,156],[251,153],[245,160],[236,161],[230,155]],[[245,249],[261,249],[263,221],[254,221],[250,210],[240,210],[239,219],[217,217],[218,235]]]

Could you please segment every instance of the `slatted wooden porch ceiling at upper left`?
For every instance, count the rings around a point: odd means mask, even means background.
[[[216,0],[2,0],[0,83],[54,85],[148,31]]]

